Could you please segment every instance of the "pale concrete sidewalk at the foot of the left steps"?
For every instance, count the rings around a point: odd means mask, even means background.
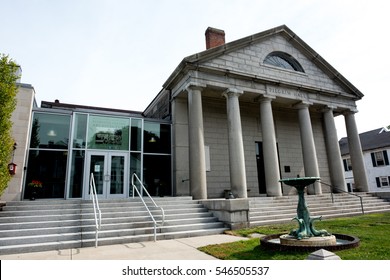
[[[189,237],[157,242],[126,243],[55,250],[36,253],[0,255],[0,260],[215,260],[197,248],[246,240],[226,234]]]

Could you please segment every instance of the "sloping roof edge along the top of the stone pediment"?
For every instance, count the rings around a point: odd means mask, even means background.
[[[185,57],[180,64],[176,67],[173,73],[168,77],[163,84],[163,88],[169,89],[175,83],[177,79],[180,79],[181,75],[186,69],[197,69],[198,65],[204,61],[216,58],[222,54],[226,54],[235,51],[239,48],[243,48],[260,42],[266,38],[279,34],[288,39],[296,48],[301,50],[310,60],[317,65],[322,71],[327,73],[330,78],[338,81],[345,88],[350,90],[357,99],[361,99],[363,94],[352,85],[343,75],[341,75],[335,68],[333,68],[325,59],[323,59],[317,52],[315,52],[308,44],[306,44],[299,36],[297,36],[286,25],[281,25],[251,36],[244,37],[239,40],[235,40],[219,47],[210,48],[205,51]]]

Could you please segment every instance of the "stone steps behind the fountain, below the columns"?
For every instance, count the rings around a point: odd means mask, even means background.
[[[358,193],[363,197],[365,214],[390,211],[390,202],[367,193]],[[311,216],[323,219],[361,215],[360,199],[346,193],[323,195],[305,195]],[[256,197],[249,200],[250,226],[291,222],[297,215],[298,196]]]

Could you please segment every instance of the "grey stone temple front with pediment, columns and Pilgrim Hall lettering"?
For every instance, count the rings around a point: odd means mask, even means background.
[[[274,52],[292,57],[303,70],[265,63]],[[177,195],[222,198],[225,190],[240,198],[288,195],[293,190],[279,179],[297,175],[346,189],[334,117],[345,115],[348,137],[356,138],[353,114],[363,94],[288,27],[217,43],[184,58],[164,91],[171,93]],[[146,116],[159,110],[155,104]],[[266,190],[260,186],[259,143]],[[352,146],[356,166],[365,173],[361,147]],[[207,170],[203,158],[210,161]],[[367,188],[364,176],[359,182]],[[320,183],[308,189],[329,191]]]

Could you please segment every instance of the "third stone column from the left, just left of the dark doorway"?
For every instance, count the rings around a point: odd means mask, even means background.
[[[261,133],[263,136],[263,157],[265,183],[267,195],[282,196],[280,180],[280,167],[278,150],[276,147],[275,124],[272,114],[272,98],[264,97],[260,99],[260,120]]]

